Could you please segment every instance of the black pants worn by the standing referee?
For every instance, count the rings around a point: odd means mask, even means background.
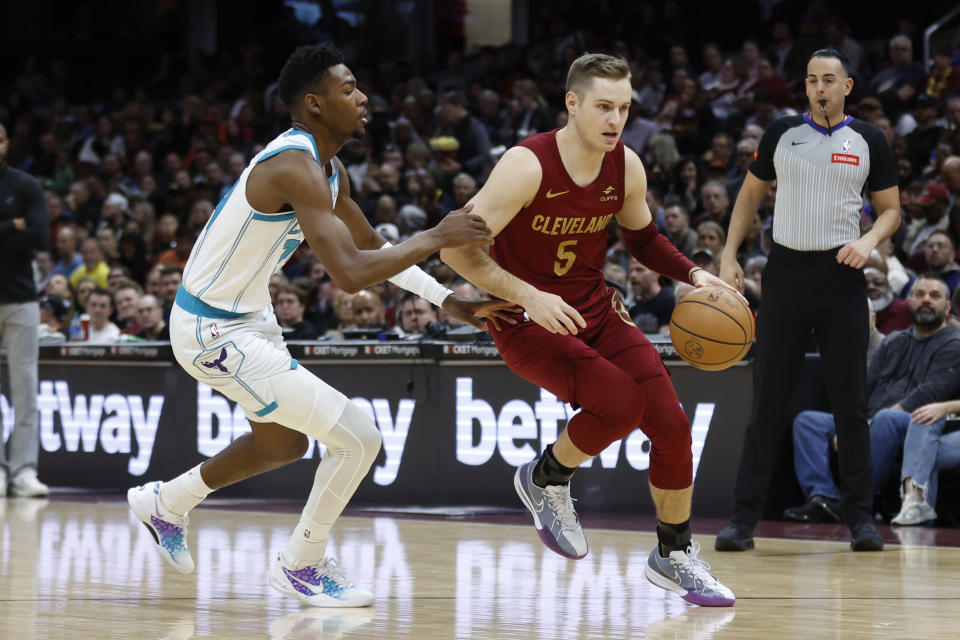
[[[751,526],[763,512],[811,329],[837,425],[840,510],[848,526],[873,517],[866,407],[867,292],[863,272],[838,264],[837,251],[794,251],[774,245],[763,271],[753,411],[743,439],[733,518]]]

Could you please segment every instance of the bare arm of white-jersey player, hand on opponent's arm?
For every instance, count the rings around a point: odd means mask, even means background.
[[[320,165],[307,152],[287,151],[258,169],[270,171],[248,187],[250,204],[256,201],[289,203],[310,248],[341,289],[356,292],[382,282],[416,264],[441,247],[488,243],[490,230],[480,216],[466,211],[447,216],[442,224],[395,247],[362,250],[347,225],[333,211],[333,200]],[[281,205],[274,205],[277,210]]]

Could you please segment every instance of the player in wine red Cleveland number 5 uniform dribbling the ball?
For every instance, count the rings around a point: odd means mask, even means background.
[[[643,164],[620,140],[630,100],[623,60],[575,60],[567,75],[567,126],[507,151],[471,201],[496,236],[489,254],[459,247],[441,257],[478,287],[523,307],[528,321],[490,327],[501,357],[521,377],[581,408],[514,479],[544,543],[568,558],[587,554],[570,478],[582,462],[642,429],[652,443],[659,539],[646,575],[688,602],[730,606],[733,592],[709,573],[691,542],[690,424],[656,349],[604,281],[607,226],[616,219],[630,253],[658,273],[733,288],[657,232]]]

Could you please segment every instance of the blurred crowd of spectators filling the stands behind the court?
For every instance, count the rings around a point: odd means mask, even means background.
[[[732,203],[764,127],[806,109],[806,57],[835,46],[855,78],[848,111],[882,129],[897,156],[904,223],[875,256],[889,291],[872,299],[882,332],[905,328],[903,299],[916,274],[940,274],[951,294],[960,282],[960,49],[938,49],[925,70],[907,35],[858,42],[846,23],[829,16],[805,18],[800,27],[794,33],[789,21],[774,20],[765,38],[746,39],[736,51],[683,41],[658,51],[571,31],[529,47],[536,56],[518,57],[514,47],[466,58],[453,52],[441,67],[389,86],[360,77],[371,122],[341,153],[353,197],[394,242],[436,224],[470,199],[506,148],[565,124],[564,69],[582,50],[606,50],[633,69],[623,140],[645,162],[655,220],[683,253],[716,273]],[[52,220],[51,249],[36,257],[37,285],[70,305],[59,328],[50,325],[50,340],[166,335],[138,311],[140,298],[153,296],[165,322],[179,272],[216,204],[262,145],[289,126],[268,74],[260,73],[265,79],[255,86],[237,73],[210,82],[223,72],[222,58],[192,57],[176,91],[156,83],[118,87],[94,103],[58,92],[56,65],[35,56],[10,83],[0,105],[9,163],[42,182]],[[151,91],[163,99],[152,99]],[[775,197],[774,189],[739,254],[754,306]],[[864,228],[872,213],[865,199]],[[425,267],[453,281],[438,260]],[[665,327],[684,293],[631,261],[615,226],[606,272],[647,332]],[[285,288],[281,306],[302,306],[278,314],[289,338],[337,337],[356,323],[352,305],[364,296],[348,304],[308,247],[275,280],[274,293]],[[381,328],[405,334],[396,314],[401,292],[382,286],[372,293],[383,308]],[[100,318],[105,300],[107,325]],[[58,301],[48,306],[63,313]],[[90,315],[92,332],[80,326],[82,314]]]

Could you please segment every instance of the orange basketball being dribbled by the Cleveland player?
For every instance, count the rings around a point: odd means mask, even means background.
[[[670,316],[677,355],[698,369],[720,371],[740,362],[753,342],[753,312],[722,287],[700,287],[680,299]]]

